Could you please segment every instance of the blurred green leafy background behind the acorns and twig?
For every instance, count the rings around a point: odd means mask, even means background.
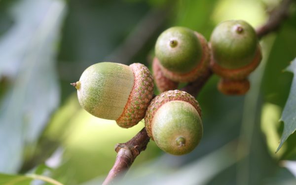
[[[151,67],[158,35],[185,26],[208,40],[223,20],[255,28],[281,0],[0,0],[0,184],[98,185],[114,146],[139,132],[82,110],[70,83],[110,61]],[[275,153],[296,57],[296,3],[281,29],[261,39],[263,60],[245,96],[218,92],[214,75],[198,95],[204,136],[184,156],[153,141],[118,184],[295,185],[296,135]],[[184,84],[182,84],[184,85]],[[155,90],[157,94],[157,90]],[[294,112],[295,113],[295,112]],[[294,175],[293,175],[294,174]]]

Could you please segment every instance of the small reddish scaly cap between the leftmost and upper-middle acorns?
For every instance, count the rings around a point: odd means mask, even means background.
[[[156,57],[154,57],[152,62],[152,71],[155,84],[160,92],[178,88],[178,82],[172,81],[171,79],[165,77],[165,75],[162,73],[159,61]]]

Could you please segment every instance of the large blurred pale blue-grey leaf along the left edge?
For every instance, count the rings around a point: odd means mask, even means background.
[[[5,148],[0,172],[5,173],[19,169],[24,147],[35,144],[59,104],[53,59],[65,2],[18,1],[11,11],[15,24],[0,39],[0,74],[12,78],[0,102],[0,148]]]

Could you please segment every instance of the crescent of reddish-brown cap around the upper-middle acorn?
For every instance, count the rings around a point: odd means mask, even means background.
[[[209,69],[210,65],[210,49],[207,43],[207,40],[205,37],[203,37],[201,34],[194,32],[194,35],[198,38],[202,50],[200,50],[201,53],[201,59],[198,61],[197,66],[191,69],[191,71],[187,73],[175,73],[173,71],[170,71],[166,69],[164,66],[160,64],[161,70],[163,74],[171,79],[172,81],[177,82],[192,82],[195,81],[197,78],[199,78],[202,74],[206,73],[206,71]],[[195,52],[198,52],[199,50],[195,50]],[[180,60],[180,63],[183,61]]]

